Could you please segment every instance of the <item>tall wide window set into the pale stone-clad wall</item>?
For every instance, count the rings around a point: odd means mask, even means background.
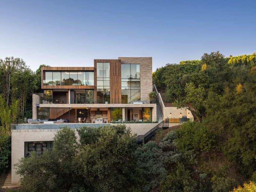
[[[140,64],[121,64],[122,103],[140,100]]]

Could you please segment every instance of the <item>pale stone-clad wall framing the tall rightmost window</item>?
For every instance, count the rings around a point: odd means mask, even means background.
[[[152,91],[152,57],[118,57],[122,64],[140,64],[140,97],[149,101]]]

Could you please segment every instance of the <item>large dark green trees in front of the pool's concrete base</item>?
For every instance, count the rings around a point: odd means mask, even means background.
[[[53,150],[20,159],[15,167],[26,191],[105,192],[140,187],[136,138],[130,129],[125,125],[84,127],[78,134],[80,144],[76,131],[64,127],[54,137]]]

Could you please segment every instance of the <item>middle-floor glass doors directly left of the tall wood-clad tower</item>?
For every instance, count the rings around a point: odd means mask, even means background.
[[[81,89],[76,90],[76,104],[94,104],[94,90]]]

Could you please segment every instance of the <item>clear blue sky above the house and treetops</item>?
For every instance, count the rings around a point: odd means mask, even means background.
[[[256,51],[255,1],[0,1],[0,58],[32,70],[93,66],[93,59],[153,57],[166,63],[219,50]]]

